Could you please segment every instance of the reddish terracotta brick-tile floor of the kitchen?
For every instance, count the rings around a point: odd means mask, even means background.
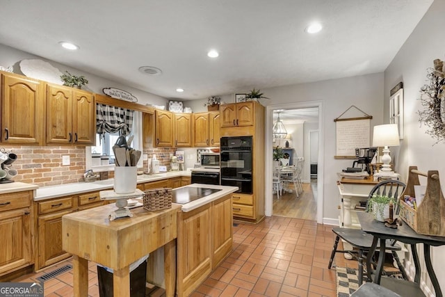
[[[232,252],[191,296],[329,296],[335,297],[335,271],[328,270],[334,243],[332,226],[313,220],[272,216],[257,225],[234,225]],[[68,259],[58,266],[65,265]],[[337,253],[338,266],[357,268]],[[40,273],[24,275],[17,282],[33,282]],[[97,270],[90,262],[89,296],[99,296]],[[44,283],[45,296],[72,296],[72,271]],[[147,296],[165,296],[153,289]]]

